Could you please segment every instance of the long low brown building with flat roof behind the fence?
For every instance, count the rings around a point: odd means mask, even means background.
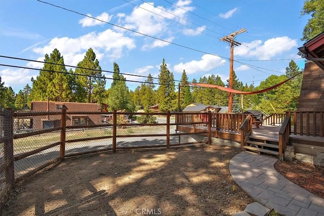
[[[47,107],[49,106],[49,110]],[[99,104],[88,104],[88,103],[71,103],[71,102],[48,102],[47,101],[32,101],[31,110],[33,112],[57,112],[61,111],[60,108],[67,109],[67,112],[99,112]],[[47,127],[60,127],[61,125],[60,115],[49,115],[47,116],[34,116],[33,117],[33,129],[42,129]],[[74,120],[75,119],[75,120]],[[73,121],[74,120],[74,121]],[[79,115],[79,114],[67,114],[66,125],[73,125],[74,123],[80,124],[84,122],[86,125],[101,124],[102,117],[100,114],[94,115]],[[75,125],[75,124],[74,124]]]

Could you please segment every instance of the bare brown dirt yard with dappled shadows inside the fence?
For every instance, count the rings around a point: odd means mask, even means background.
[[[254,202],[227,146],[128,150],[67,159],[17,186],[4,215],[231,215]]]

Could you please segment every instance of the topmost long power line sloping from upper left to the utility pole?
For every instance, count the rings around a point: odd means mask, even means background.
[[[138,32],[138,31],[135,31],[135,30],[132,30],[132,29],[129,29],[129,28],[126,28],[126,27],[123,27],[123,26],[119,26],[119,25],[116,25],[116,24],[113,24],[113,23],[110,23],[110,22],[106,22],[106,21],[103,21],[103,20],[100,20],[98,18],[95,18],[95,17],[91,17],[89,15],[86,15],[86,14],[83,14],[83,13],[79,13],[79,12],[76,12],[76,11],[73,11],[73,10],[70,10],[70,9],[67,9],[67,8],[64,8],[64,7],[61,7],[61,6],[57,6],[57,5],[54,5],[54,4],[51,4],[51,3],[48,3],[48,2],[43,2],[41,0],[36,0],[37,2],[41,2],[41,3],[44,3],[44,4],[47,4],[47,5],[50,5],[50,6],[53,6],[53,7],[56,7],[56,8],[60,8],[62,10],[65,10],[65,11],[69,11],[69,12],[72,12],[72,13],[75,13],[75,14],[78,14],[78,15],[82,15],[82,16],[85,16],[85,17],[89,17],[91,19],[95,19],[95,20],[98,20],[100,22],[104,22],[104,23],[107,23],[109,25],[113,25],[113,26],[116,26],[118,28],[123,28],[125,30],[128,30],[128,31],[132,31],[134,33],[137,33],[137,34],[141,34],[141,35],[144,35],[144,36],[147,36],[147,37],[150,37],[150,38],[153,38],[153,39],[157,39],[157,40],[160,40],[160,41],[163,41],[163,42],[166,42],[168,44],[172,44],[172,45],[175,45],[175,46],[178,46],[178,47],[182,47],[182,48],[185,48],[185,49],[188,49],[188,50],[193,50],[193,51],[196,51],[196,52],[199,52],[199,53],[204,53],[204,54],[209,54],[209,55],[212,55],[212,56],[217,56],[217,57],[221,57],[221,58],[224,58],[224,59],[229,59],[227,57],[223,57],[223,56],[219,56],[219,55],[216,55],[216,54],[212,54],[212,53],[208,53],[208,52],[205,52],[205,51],[201,51],[201,50],[197,50],[197,49],[194,49],[194,48],[190,48],[190,47],[186,47],[184,45],[180,45],[180,44],[176,44],[174,42],[170,42],[168,40],[164,40],[164,39],[161,39],[161,38],[158,38],[158,37],[154,37],[154,36],[151,36],[151,35],[148,35],[148,34],[144,34],[144,33],[141,33],[141,32]]]

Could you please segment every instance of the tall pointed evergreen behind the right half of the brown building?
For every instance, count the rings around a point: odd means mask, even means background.
[[[85,58],[77,66],[80,68],[75,69],[75,74],[86,75],[76,75],[76,82],[79,84],[78,94],[85,96],[78,102],[102,102],[106,80],[105,76],[101,75],[101,67],[92,48],[87,51]]]

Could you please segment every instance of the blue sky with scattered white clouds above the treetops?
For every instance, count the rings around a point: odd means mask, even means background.
[[[239,61],[234,62],[234,70],[240,81],[258,85],[271,74],[285,74],[291,59],[304,67],[304,60],[297,55],[297,48],[304,43],[300,40],[303,28],[309,19],[300,16],[304,1],[44,1],[116,26],[36,0],[1,0],[0,55],[43,61],[45,54],[57,48],[65,64],[76,65],[92,48],[103,70],[112,71],[116,62],[121,73],[143,76],[151,73],[157,77],[159,65],[165,58],[176,80],[181,79],[185,70],[189,81],[215,74],[226,83],[230,49],[220,38],[245,28],[247,32],[235,38],[242,43],[234,49],[234,59]],[[31,68],[43,66],[7,58],[0,58],[0,63]],[[30,78],[38,73],[37,70],[0,66],[2,81],[15,92],[31,84]],[[102,74],[112,77],[111,73]],[[127,80],[145,80],[125,76]],[[106,88],[110,83],[111,80],[107,80]],[[127,85],[134,90],[140,83],[127,82]]]

